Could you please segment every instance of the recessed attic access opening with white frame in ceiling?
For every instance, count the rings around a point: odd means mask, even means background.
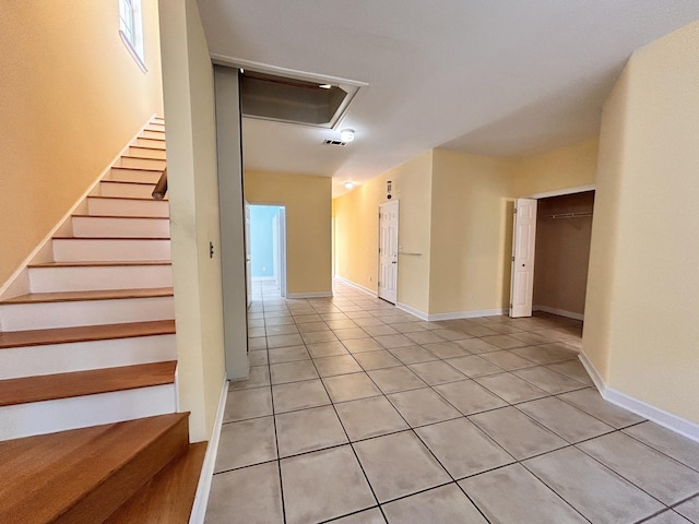
[[[343,87],[246,70],[240,74],[242,116],[332,128],[356,93]]]

